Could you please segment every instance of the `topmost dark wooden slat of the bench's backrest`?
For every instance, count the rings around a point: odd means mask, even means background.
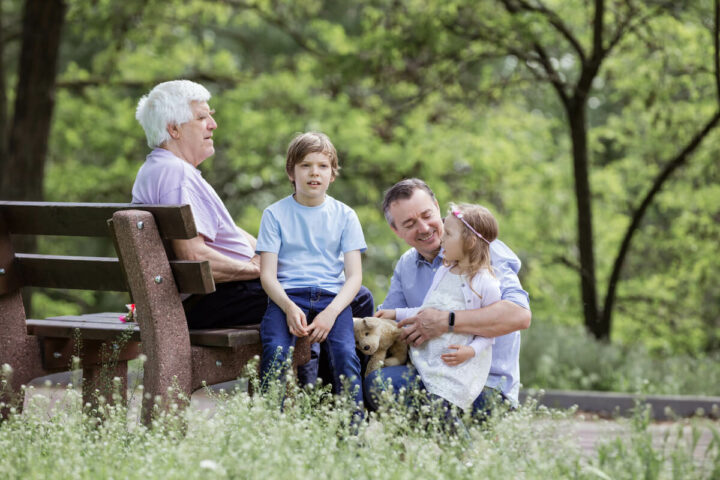
[[[198,235],[190,205],[0,201],[0,215],[8,231],[24,235],[109,237],[106,222],[118,210],[151,212],[165,239],[187,240]]]

